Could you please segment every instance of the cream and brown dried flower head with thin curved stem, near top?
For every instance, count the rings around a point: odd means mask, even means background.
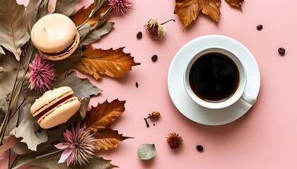
[[[148,22],[144,25],[146,32],[148,32],[151,39],[162,39],[165,36],[166,29],[163,25],[158,23],[156,17],[148,18]]]

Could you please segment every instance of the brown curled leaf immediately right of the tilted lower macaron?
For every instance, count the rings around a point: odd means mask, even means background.
[[[108,128],[124,112],[125,103],[126,101],[115,99],[112,102],[105,101],[103,104],[98,104],[87,112],[87,118],[83,120],[83,124],[86,124],[93,133],[101,128]]]

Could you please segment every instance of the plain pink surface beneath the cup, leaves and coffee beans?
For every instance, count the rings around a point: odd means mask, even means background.
[[[91,0],[81,1],[91,4]],[[175,1],[135,0],[132,11],[125,15],[111,15],[108,21],[115,27],[94,46],[131,53],[136,62],[125,77],[103,77],[91,82],[103,93],[91,100],[91,105],[125,100],[126,111],[112,126],[124,136],[134,137],[120,143],[117,149],[99,151],[98,156],[112,160],[120,168],[297,168],[296,113],[296,30],[294,17],[297,2],[252,1],[243,3],[243,10],[221,3],[218,24],[200,14],[197,20],[182,31],[178,15],[173,14]],[[148,18],[156,16],[163,23],[165,37],[152,41],[144,30]],[[262,24],[263,30],[256,26]],[[137,32],[143,32],[136,39]],[[252,52],[260,68],[261,87],[258,101],[242,118],[220,126],[200,125],[185,118],[170,99],[168,69],[176,52],[190,40],[202,35],[225,35],[238,40]],[[286,54],[277,49],[283,46]],[[151,56],[158,55],[152,62]],[[135,87],[135,82],[139,87]],[[161,118],[149,121],[148,113],[159,111]],[[155,124],[155,126],[153,126]],[[176,132],[184,139],[180,149],[170,149],[166,137]],[[155,144],[156,157],[141,161],[137,156],[140,144]],[[204,152],[196,146],[204,146]]]

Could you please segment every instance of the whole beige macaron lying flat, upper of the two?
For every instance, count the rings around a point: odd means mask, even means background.
[[[79,44],[76,25],[59,13],[40,18],[32,27],[31,39],[40,54],[52,61],[71,56]]]

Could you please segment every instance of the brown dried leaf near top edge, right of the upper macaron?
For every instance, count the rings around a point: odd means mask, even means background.
[[[94,8],[94,3],[88,6],[88,8],[85,8],[83,6],[76,13],[74,13],[74,15],[71,15],[71,20],[75,23],[76,26],[81,25],[86,20],[88,20],[88,16],[90,15],[93,8]],[[98,11],[95,12],[92,18],[90,18],[90,20],[87,21],[87,24],[93,26],[95,25],[95,23],[98,23],[98,21],[101,18],[100,15],[102,13],[105,13],[108,10],[108,8],[110,8],[110,5],[108,4],[108,2],[105,2],[105,4],[103,4],[103,6],[100,6]]]

